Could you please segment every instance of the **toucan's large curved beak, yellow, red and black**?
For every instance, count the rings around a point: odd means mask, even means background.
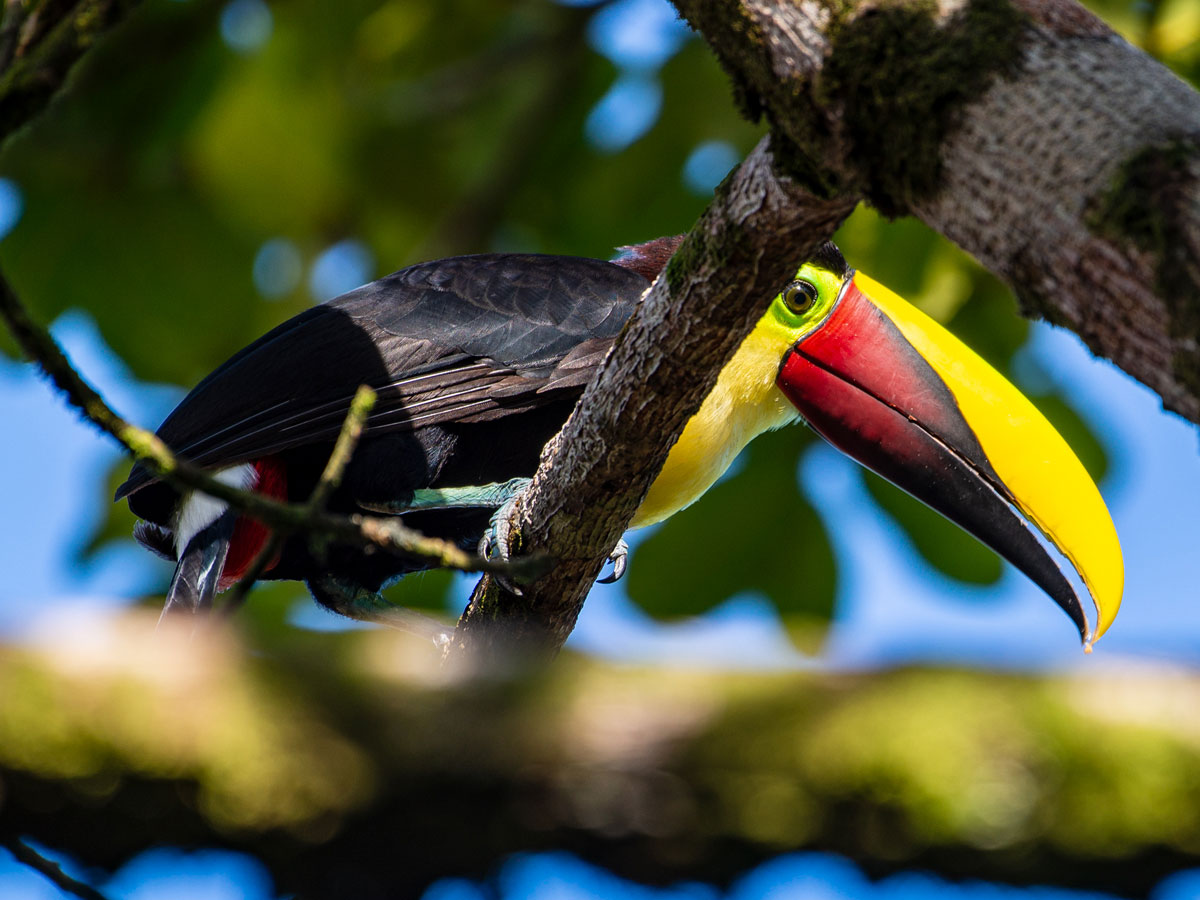
[[[1033,404],[936,322],[856,274],[826,322],[788,352],[778,384],[838,449],[1028,575],[1085,647],[1112,624],[1124,565],[1099,491]],[[1022,515],[1075,566],[1096,604],[1094,630]]]

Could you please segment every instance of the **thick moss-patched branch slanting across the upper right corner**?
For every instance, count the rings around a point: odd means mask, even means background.
[[[1073,0],[677,0],[794,154],[1200,421],[1200,95]]]

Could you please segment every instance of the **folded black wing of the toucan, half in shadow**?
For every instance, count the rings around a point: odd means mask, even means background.
[[[284,322],[200,382],[158,436],[205,467],[332,440],[360,384],[373,433],[481,421],[580,390],[648,282],[578,257],[402,269]],[[140,463],[116,499],[154,481]]]

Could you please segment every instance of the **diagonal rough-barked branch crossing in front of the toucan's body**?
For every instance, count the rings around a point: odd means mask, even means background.
[[[451,655],[553,654],[575,626],[684,424],[788,276],[853,209],[779,178],[764,139],[718,188],[666,271],[546,445],[515,517],[520,552],[557,565],[518,596],[490,578]]]

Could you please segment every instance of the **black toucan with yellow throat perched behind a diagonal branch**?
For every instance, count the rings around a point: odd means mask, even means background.
[[[419,263],[284,322],[204,378],[158,428],[229,485],[308,498],[359,385],[377,391],[330,509],[401,516],[463,547],[536,468],[680,238],[612,260],[488,253]],[[1116,530],[1045,418],[941,325],[821,246],[721,370],[631,527],[704,493],[757,434],[805,422],[995,550],[1044,589],[1090,647],[1121,602]],[[175,560],[166,608],[235,582],[268,530],[143,463],[118,488],[137,539]],[[1079,574],[1079,594],[1044,538]],[[618,560],[619,562],[619,560]],[[286,540],[266,578],[304,581],[344,616],[392,622],[380,590],[427,568],[359,547]]]

